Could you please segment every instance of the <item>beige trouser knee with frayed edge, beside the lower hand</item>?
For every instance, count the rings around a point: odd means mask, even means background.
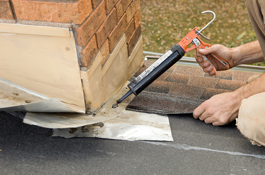
[[[265,92],[241,101],[236,125],[253,145],[265,146]]]

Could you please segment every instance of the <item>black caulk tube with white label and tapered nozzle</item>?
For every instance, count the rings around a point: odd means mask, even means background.
[[[126,99],[129,95],[134,93],[137,96],[147,86],[149,86],[160,75],[166,72],[171,66],[184,56],[184,50],[178,45],[174,44],[166,53],[164,53],[156,62],[149,66],[143,73],[141,73],[134,81],[128,84],[129,91],[122,96],[117,103],[112,105],[112,108],[118,107],[118,104]]]

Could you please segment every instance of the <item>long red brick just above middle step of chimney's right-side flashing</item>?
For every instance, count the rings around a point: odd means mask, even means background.
[[[109,51],[111,51],[115,44],[118,42],[118,40],[121,37],[121,34],[124,32],[126,27],[126,13],[124,13],[121,17],[121,19],[117,22],[114,29],[112,29],[111,33],[108,36],[109,40]]]

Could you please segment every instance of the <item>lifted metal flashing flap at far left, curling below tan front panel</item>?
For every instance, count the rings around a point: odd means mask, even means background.
[[[68,104],[67,104],[68,105]],[[0,78],[0,110],[30,112],[81,112],[58,98],[48,98]]]

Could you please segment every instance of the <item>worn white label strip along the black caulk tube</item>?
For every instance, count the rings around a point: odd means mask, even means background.
[[[143,71],[135,80],[140,82],[144,79],[149,73],[151,73],[155,68],[157,68],[163,61],[165,61],[173,52],[168,50],[164,53],[158,60],[156,60],[151,66],[149,66],[145,71]]]

